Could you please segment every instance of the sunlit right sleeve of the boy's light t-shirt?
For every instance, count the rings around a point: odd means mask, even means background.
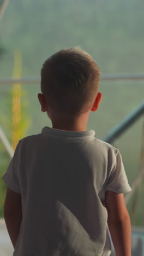
[[[124,170],[122,156],[119,151],[117,152],[116,165],[111,171],[106,190],[111,190],[118,194],[128,193],[131,191],[128,178]]]

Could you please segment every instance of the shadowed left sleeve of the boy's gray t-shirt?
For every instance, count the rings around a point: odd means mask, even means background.
[[[21,194],[19,176],[17,173],[17,157],[20,149],[20,142],[17,144],[13,158],[11,159],[7,171],[2,176],[3,181],[7,184],[8,188],[16,193]]]

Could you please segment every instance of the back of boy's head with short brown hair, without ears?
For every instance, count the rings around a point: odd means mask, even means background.
[[[79,47],[60,50],[41,68],[41,92],[58,112],[78,115],[93,105],[100,71],[91,55]]]

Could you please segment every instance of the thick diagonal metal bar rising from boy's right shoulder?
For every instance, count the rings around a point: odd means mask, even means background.
[[[115,126],[103,139],[107,143],[112,143],[118,138],[125,130],[127,130],[140,116],[144,114],[144,101],[131,112],[123,121]]]

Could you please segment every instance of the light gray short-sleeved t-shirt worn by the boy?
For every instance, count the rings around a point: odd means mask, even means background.
[[[131,191],[118,149],[94,137],[44,127],[17,144],[2,177],[21,194],[14,256],[108,256],[106,190]]]

